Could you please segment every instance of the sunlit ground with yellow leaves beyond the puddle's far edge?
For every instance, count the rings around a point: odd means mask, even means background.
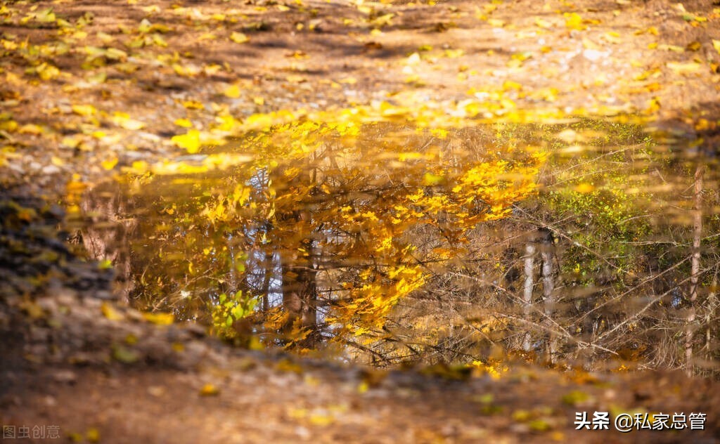
[[[717,132],[709,0],[40,1],[4,2],[0,17],[6,184],[92,182],[174,155],[172,136],[228,114],[373,101],[471,99],[492,119],[629,112]]]

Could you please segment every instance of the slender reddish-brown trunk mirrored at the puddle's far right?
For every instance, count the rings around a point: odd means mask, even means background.
[[[703,173],[704,167],[698,165],[695,171],[695,208],[693,211],[693,256],[690,261],[690,294],[688,318],[685,322],[685,373],[693,376],[693,335],[695,332],[695,304],[700,284],[700,241],[703,234]]]

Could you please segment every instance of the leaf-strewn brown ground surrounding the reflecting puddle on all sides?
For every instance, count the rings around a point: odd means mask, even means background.
[[[55,233],[63,209],[45,204],[193,153],[192,137],[228,115],[380,101],[473,99],[504,119],[642,115],[717,152],[716,2],[0,1],[0,39],[4,432],[58,426],[63,440],[102,443],[718,442],[718,383],[680,373],[379,372],[156,325],[112,302],[107,273],[68,252]],[[574,430],[575,412],[595,411],[702,412],[706,430]]]

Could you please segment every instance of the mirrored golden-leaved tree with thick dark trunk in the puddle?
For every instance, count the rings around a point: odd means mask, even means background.
[[[143,291],[168,284],[158,271],[181,267],[176,288],[192,292],[181,287],[202,281],[212,304],[238,290],[228,284],[230,271],[240,271],[245,284],[235,297],[263,300],[263,337],[282,332],[281,342],[302,347],[343,337],[358,350],[396,343],[391,314],[435,273],[460,266],[475,227],[533,193],[543,161],[517,142],[489,145],[484,130],[457,134],[359,122],[249,133],[234,149],[251,163],[191,179],[174,196],[138,197],[164,219],[152,223],[167,227],[148,242],[162,240],[164,259],[150,255],[158,268],[145,268]],[[166,180],[135,179],[145,181],[145,194]],[[243,260],[230,260],[232,248],[216,242],[228,235]],[[228,313],[214,318],[216,327],[234,335]]]

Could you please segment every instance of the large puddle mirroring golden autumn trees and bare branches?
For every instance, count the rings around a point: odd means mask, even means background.
[[[82,235],[130,304],[245,345],[711,371],[718,170],[679,136],[287,124],[206,150],[244,156],[222,168],[97,186]]]

